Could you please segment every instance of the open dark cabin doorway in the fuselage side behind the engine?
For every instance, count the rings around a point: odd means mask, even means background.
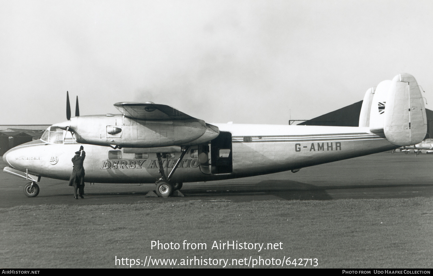
[[[220,131],[220,135],[210,141],[210,158],[212,174],[233,172],[232,133]]]

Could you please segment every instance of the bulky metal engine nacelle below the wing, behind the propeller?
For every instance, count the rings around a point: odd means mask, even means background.
[[[219,135],[218,127],[195,118],[146,121],[120,114],[89,115],[54,126],[73,131],[78,143],[128,148],[196,145]]]

